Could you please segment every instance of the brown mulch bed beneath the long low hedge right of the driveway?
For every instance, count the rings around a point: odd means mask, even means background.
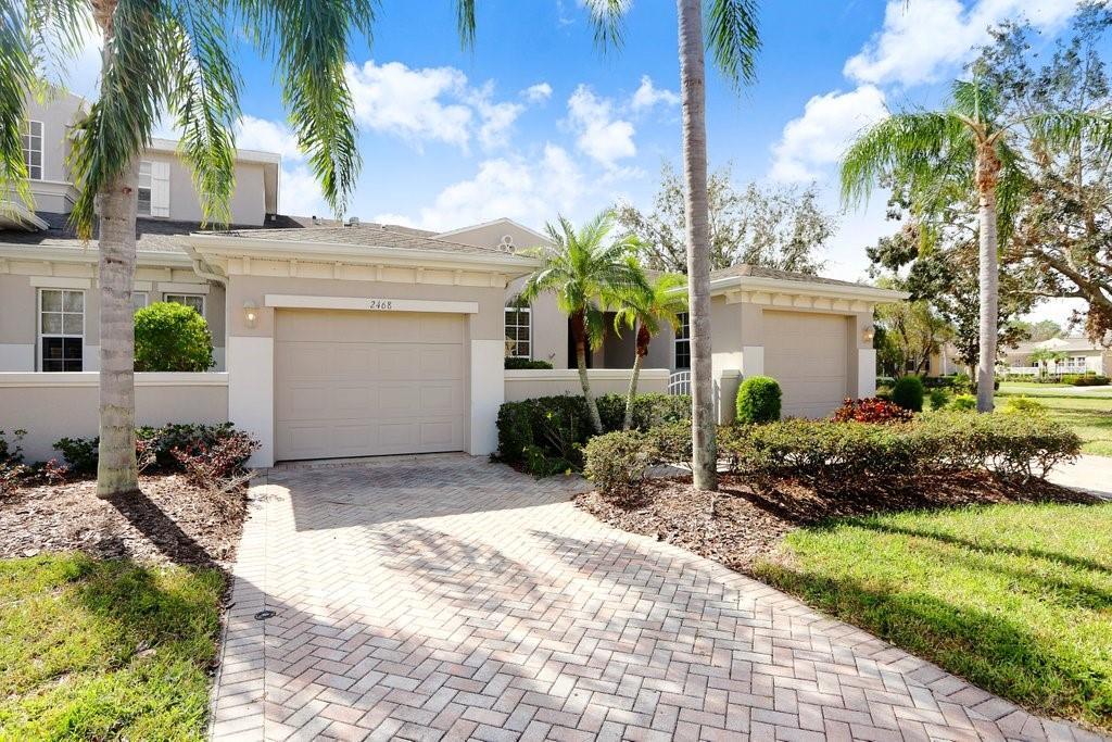
[[[653,536],[732,570],[749,573],[754,562],[775,551],[785,534],[801,526],[852,515],[1009,502],[1093,502],[1090,495],[1042,479],[1007,482],[986,472],[956,472],[914,479],[874,477],[852,489],[817,491],[782,479],[756,487],[723,475],[717,493],[698,492],[691,476],[654,478],[634,498],[597,492],[576,504],[616,528]]]

